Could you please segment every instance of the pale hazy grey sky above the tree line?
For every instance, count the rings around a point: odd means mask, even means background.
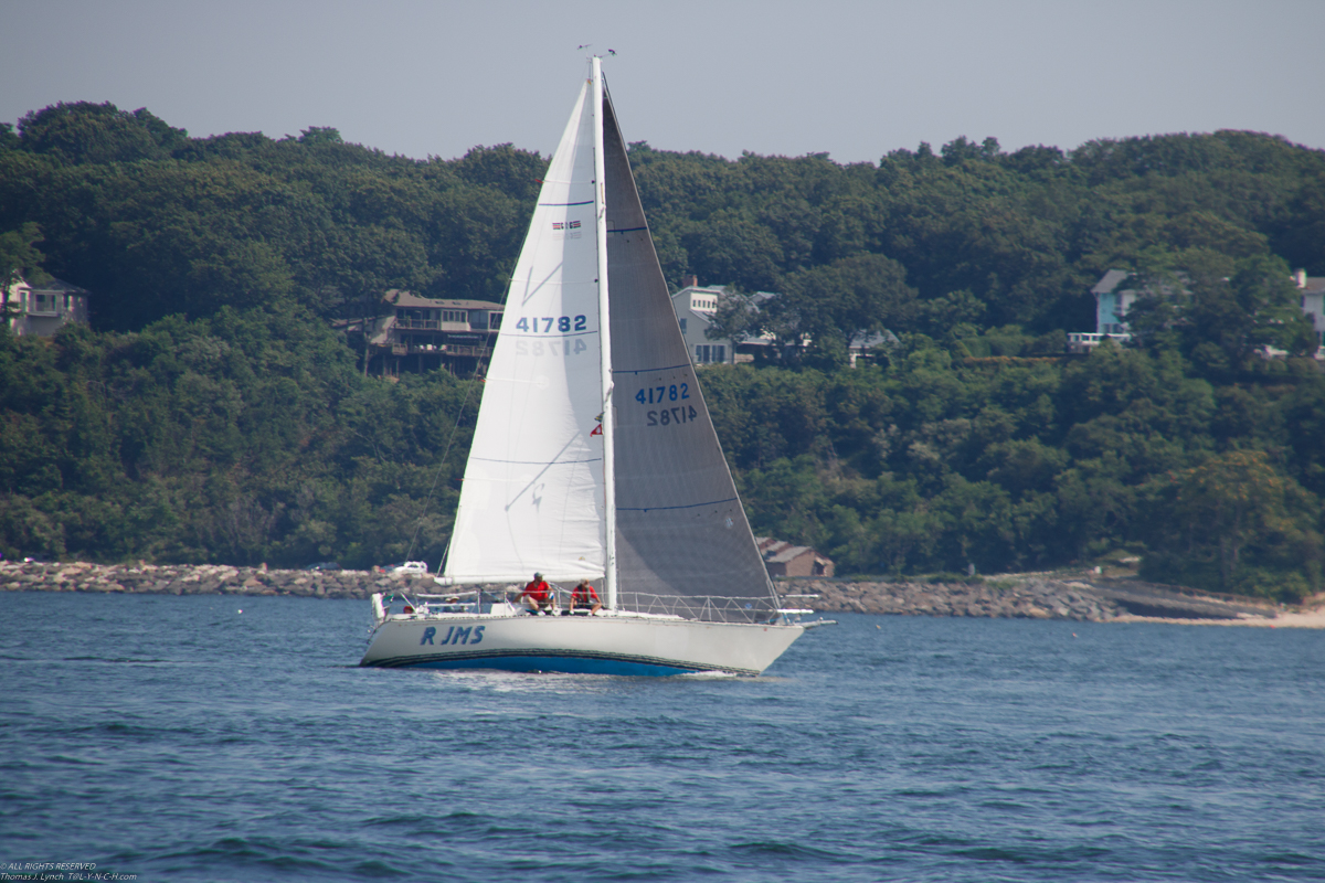
[[[874,160],[966,135],[1247,128],[1325,147],[1322,0],[0,0],[0,120],[147,107],[201,136],[545,155],[604,62],[627,140]]]

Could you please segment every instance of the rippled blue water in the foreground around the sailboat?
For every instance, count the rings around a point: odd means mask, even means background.
[[[358,669],[362,601],[0,616],[0,863],[1325,879],[1320,631],[843,616],[763,678],[635,679]]]

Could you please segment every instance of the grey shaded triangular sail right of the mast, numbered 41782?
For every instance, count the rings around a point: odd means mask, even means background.
[[[772,617],[776,601],[677,326],[610,95],[603,140],[620,604],[719,597],[737,600],[735,609],[719,602],[709,618]]]

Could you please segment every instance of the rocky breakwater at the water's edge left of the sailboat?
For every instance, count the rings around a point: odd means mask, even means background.
[[[0,561],[8,592],[126,592],[156,594],[292,594],[367,598],[374,592],[428,590],[431,577],[367,571],[276,571],[223,564],[85,564]],[[436,586],[433,586],[436,588]]]

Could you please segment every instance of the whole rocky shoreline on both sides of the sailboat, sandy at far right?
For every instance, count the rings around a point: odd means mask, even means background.
[[[1325,629],[1325,597],[1287,609],[1260,598],[1215,596],[1129,577],[1043,573],[962,582],[775,582],[784,606],[816,613],[961,616]],[[368,571],[282,571],[225,564],[90,564],[0,561],[0,590],[111,594],[231,594],[367,600],[374,592],[436,592],[431,576]],[[814,596],[814,597],[806,597]]]

